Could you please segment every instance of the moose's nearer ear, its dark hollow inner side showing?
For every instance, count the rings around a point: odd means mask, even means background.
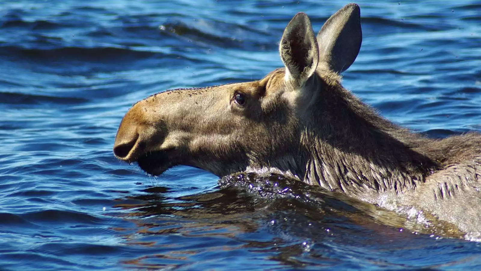
[[[279,54],[286,66],[286,81],[302,86],[316,71],[319,48],[316,34],[306,14],[296,14],[284,30]]]

